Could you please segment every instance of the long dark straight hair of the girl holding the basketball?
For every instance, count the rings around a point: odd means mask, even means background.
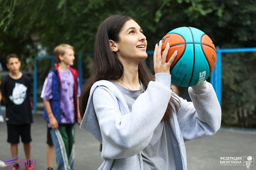
[[[135,21],[129,16],[112,15],[105,19],[98,28],[94,46],[94,70],[89,79],[84,83],[79,100],[81,118],[84,117],[84,112],[86,110],[90,90],[93,84],[98,80],[119,79],[123,75],[123,65],[117,57],[117,53],[110,49],[109,40],[119,42],[119,34],[124,24],[129,20]],[[147,89],[150,81],[155,81],[155,76],[152,75],[151,71],[143,62],[139,63],[138,74],[141,83],[144,84],[145,90]],[[175,102],[173,98],[171,98],[170,101],[177,110],[177,102]],[[176,99],[176,101],[178,100]],[[163,116],[163,120],[170,120],[173,111],[174,108],[169,103],[165,115]]]

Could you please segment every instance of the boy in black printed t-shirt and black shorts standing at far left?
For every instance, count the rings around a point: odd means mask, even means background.
[[[12,158],[18,157],[19,136],[22,138],[26,159],[30,158],[32,112],[29,100],[29,77],[19,71],[21,62],[16,54],[7,56],[9,75],[2,80],[2,100],[6,101],[7,142],[11,143]],[[24,163],[25,164],[25,163]],[[26,163],[27,164],[27,163]],[[31,163],[26,170],[33,170]],[[20,170],[18,160],[12,170]]]

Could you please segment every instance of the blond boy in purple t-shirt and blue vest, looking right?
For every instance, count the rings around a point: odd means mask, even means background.
[[[78,71],[69,67],[74,64],[74,48],[69,44],[60,44],[53,54],[58,65],[46,77],[43,117],[51,128],[57,170],[73,170],[74,123],[80,122]]]

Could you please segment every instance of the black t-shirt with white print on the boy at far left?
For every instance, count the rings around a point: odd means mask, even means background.
[[[12,79],[9,75],[2,80],[2,95],[6,98],[6,123],[32,123],[32,112],[29,100],[30,79],[22,75]]]

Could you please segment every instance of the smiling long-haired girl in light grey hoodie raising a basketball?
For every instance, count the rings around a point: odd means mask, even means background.
[[[154,51],[153,76],[142,62],[147,41],[129,16],[101,23],[95,40],[95,70],[81,91],[81,129],[102,143],[99,170],[186,170],[184,141],[213,135],[221,109],[208,82],[189,87],[193,102],[172,92],[169,45]]]

